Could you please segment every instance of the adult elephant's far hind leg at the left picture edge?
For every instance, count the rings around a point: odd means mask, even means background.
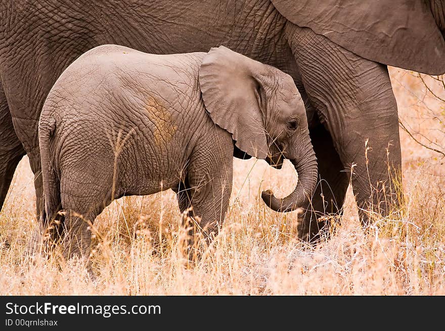
[[[17,164],[25,154],[25,149],[14,131],[8,101],[0,82],[0,210],[5,202]]]

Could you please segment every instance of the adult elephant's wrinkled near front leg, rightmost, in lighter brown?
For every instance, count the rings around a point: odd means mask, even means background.
[[[287,29],[305,91],[343,166],[353,167],[352,186],[366,223],[366,210],[385,214],[398,204],[398,116],[387,68],[308,28]]]

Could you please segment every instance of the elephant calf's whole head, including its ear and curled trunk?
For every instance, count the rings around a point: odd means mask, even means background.
[[[276,211],[295,210],[307,202],[317,183],[317,158],[293,79],[219,46],[204,57],[199,83],[213,122],[232,134],[239,149],[276,168],[281,168],[283,157],[294,165],[295,190],[283,199],[264,191],[264,202]]]

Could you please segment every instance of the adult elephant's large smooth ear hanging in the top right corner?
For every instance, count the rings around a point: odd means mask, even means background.
[[[272,0],[272,3],[292,23],[308,27],[365,59],[431,75],[445,72],[445,39],[424,1]],[[443,15],[443,8],[434,13]]]

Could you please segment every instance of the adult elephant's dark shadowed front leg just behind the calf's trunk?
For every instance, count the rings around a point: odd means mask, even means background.
[[[298,236],[305,241],[318,242],[333,219],[323,216],[341,215],[349,178],[324,126],[319,124],[309,132],[318,160],[319,182],[298,225]]]

